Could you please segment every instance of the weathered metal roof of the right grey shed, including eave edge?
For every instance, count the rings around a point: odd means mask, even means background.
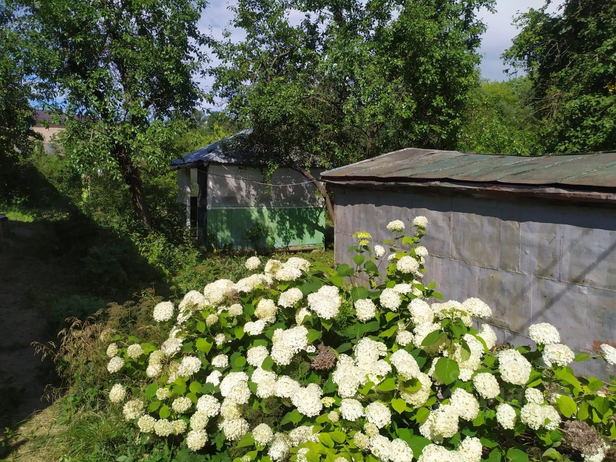
[[[616,153],[519,156],[406,148],[328,170],[321,178],[357,186],[446,187],[616,202]]]

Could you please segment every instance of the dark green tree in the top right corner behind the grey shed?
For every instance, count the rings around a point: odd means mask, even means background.
[[[548,150],[614,150],[616,2],[566,0],[554,15],[550,3],[517,18],[521,31],[503,57],[533,83]]]

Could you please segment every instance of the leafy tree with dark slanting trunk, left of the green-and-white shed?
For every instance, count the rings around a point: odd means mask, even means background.
[[[205,0],[10,0],[38,99],[66,115],[65,148],[85,173],[123,179],[152,226],[140,169],[168,165],[182,115],[203,97]]]

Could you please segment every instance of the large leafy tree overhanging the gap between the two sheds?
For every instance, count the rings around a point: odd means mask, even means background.
[[[270,167],[310,166],[410,145],[452,147],[477,84],[479,7],[492,0],[240,0],[214,43],[214,91]],[[296,21],[298,10],[304,17]],[[317,187],[333,208],[325,188]]]

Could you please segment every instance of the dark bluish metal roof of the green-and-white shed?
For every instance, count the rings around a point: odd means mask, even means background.
[[[185,155],[181,159],[172,161],[174,166],[188,166],[199,164],[247,164],[253,158],[251,153],[246,148],[238,147],[238,143],[233,143],[233,139],[243,137],[250,134],[251,129],[245,129],[235,135],[229,136],[215,143],[209,144],[203,148]],[[241,143],[239,143],[241,144]]]

